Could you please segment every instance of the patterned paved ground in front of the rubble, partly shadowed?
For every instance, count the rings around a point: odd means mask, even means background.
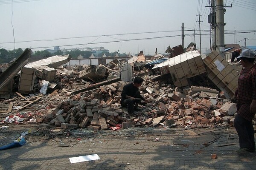
[[[129,128],[76,130],[69,136],[26,136],[21,147],[0,151],[0,170],[255,170],[256,153],[236,153],[234,128]],[[0,146],[18,132],[1,130]],[[205,141],[205,142],[203,142]],[[231,144],[218,147],[224,144]],[[61,147],[67,144],[67,147]],[[63,146],[63,145],[62,145]],[[98,154],[100,160],[70,163],[69,158]],[[217,159],[211,159],[212,154]]]

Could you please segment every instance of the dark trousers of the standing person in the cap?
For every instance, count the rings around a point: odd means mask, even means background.
[[[254,130],[252,121],[248,121],[239,116],[239,114],[237,114],[234,120],[234,126],[236,127],[236,131],[239,136],[240,147],[255,150]]]

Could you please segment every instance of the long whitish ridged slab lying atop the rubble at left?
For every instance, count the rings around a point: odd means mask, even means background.
[[[47,65],[50,68],[57,68],[61,65],[66,64],[67,62],[70,61],[69,55],[64,55],[64,56],[52,56],[47,59],[41,59],[35,62],[31,62],[25,67],[27,68],[32,68],[32,67],[39,67],[41,65]]]

